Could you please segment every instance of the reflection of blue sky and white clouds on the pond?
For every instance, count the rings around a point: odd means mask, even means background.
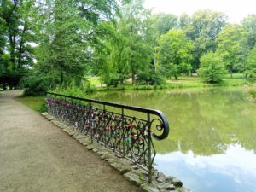
[[[241,158],[246,157],[246,158]],[[195,191],[255,192],[256,155],[240,145],[230,145],[225,154],[211,156],[174,152],[156,157],[158,169],[182,177]]]

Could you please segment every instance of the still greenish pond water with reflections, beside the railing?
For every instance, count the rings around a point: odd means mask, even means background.
[[[96,99],[159,109],[169,137],[155,166],[195,192],[256,192],[256,103],[242,88],[109,91]]]

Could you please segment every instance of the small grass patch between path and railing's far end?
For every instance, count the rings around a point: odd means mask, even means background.
[[[45,96],[19,96],[16,100],[25,104],[28,108],[32,108],[38,113],[44,112]]]

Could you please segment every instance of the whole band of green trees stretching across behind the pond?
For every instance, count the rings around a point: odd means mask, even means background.
[[[108,85],[163,84],[198,73],[256,75],[256,15],[241,24],[223,13],[156,14],[143,0],[0,1],[0,88],[40,94],[81,86],[87,75]]]

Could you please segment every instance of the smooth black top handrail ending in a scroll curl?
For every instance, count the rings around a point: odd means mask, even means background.
[[[53,92],[47,92],[47,94],[53,95],[53,96],[62,96],[65,98],[70,98],[70,99],[79,100],[79,101],[83,101],[83,102],[94,102],[97,104],[102,104],[105,106],[110,106],[110,107],[115,107],[115,108],[123,108],[123,109],[133,110],[133,111],[142,112],[142,113],[154,114],[154,115],[157,115],[158,117],[160,117],[160,119],[162,120],[163,127],[161,127],[161,128],[164,130],[160,136],[153,134],[154,137],[161,140],[161,139],[166,138],[169,134],[168,120],[166,119],[166,115],[164,113],[162,113],[160,110],[128,106],[128,105],[123,105],[123,104],[118,104],[118,103],[113,103],[113,102],[102,102],[102,101],[98,101],[98,100],[94,100],[94,99],[86,99],[86,98],[81,98],[81,97],[76,97],[76,96],[67,96],[67,95],[62,95],[62,94],[53,93]]]

